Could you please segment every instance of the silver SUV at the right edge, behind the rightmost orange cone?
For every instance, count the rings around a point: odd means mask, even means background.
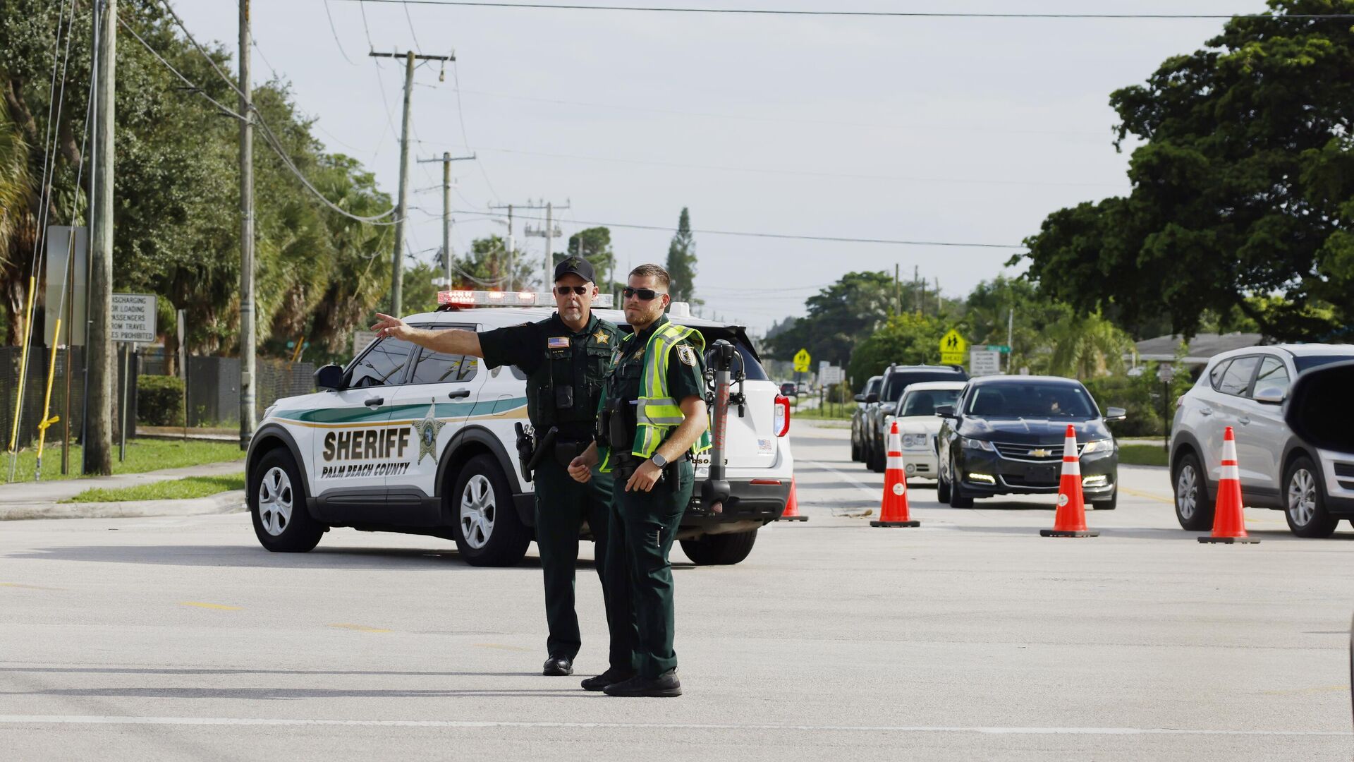
[[[1275,344],[1223,353],[1175,401],[1171,481],[1182,527],[1213,525],[1213,495],[1223,454],[1223,431],[1236,435],[1242,500],[1282,510],[1298,537],[1330,537],[1340,518],[1354,521],[1354,489],[1336,479],[1350,468],[1297,438],[1284,422],[1289,385],[1304,370],[1354,359],[1349,344]],[[1347,416],[1342,409],[1332,416]],[[1349,481],[1346,481],[1349,483]]]

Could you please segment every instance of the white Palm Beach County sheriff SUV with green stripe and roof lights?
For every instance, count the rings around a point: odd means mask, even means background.
[[[609,300],[609,297],[603,297]],[[437,312],[403,320],[420,328],[489,331],[550,317],[548,294],[443,292]],[[485,305],[505,305],[486,308]],[[620,310],[597,316],[628,329]],[[743,404],[731,405],[724,449],[733,494],[719,513],[686,508],[678,540],[697,564],[735,564],[789,496],[789,403],[766,377],[742,327],[686,315],[669,319],[733,343],[743,359]],[[245,461],[255,534],[275,552],[306,552],[330,527],[454,540],[474,565],[512,565],[532,540],[532,483],[517,458],[527,426],[527,381],[515,366],[379,339],[345,367],[315,372],[313,395],[269,407]],[[737,390],[737,388],[735,388]],[[696,464],[705,479],[709,464]],[[584,538],[590,538],[584,527]]]

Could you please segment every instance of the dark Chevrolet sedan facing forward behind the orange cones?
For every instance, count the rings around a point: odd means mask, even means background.
[[[1121,408],[1102,416],[1086,386],[1052,376],[986,376],[964,386],[936,441],[937,499],[967,508],[974,498],[1057,492],[1063,438],[1076,431],[1082,494],[1095,508],[1118,500],[1118,446],[1105,426],[1122,420]]]

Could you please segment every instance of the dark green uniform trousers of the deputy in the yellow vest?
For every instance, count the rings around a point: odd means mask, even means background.
[[[630,587],[624,647],[628,662],[621,662],[640,677],[657,678],[677,666],[673,651],[673,568],[668,561],[673,537],[686,513],[695,487],[692,462],[676,464],[677,489],[668,479],[649,492],[627,492],[616,476],[611,511],[611,534],[607,541],[607,583],[612,590]],[[612,643],[616,632],[612,630]],[[612,664],[615,664],[615,658]]]

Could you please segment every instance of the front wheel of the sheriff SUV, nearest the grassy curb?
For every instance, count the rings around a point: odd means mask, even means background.
[[[301,469],[286,447],[259,458],[249,473],[249,518],[259,544],[274,553],[305,553],[320,544],[325,525],[310,515]]]

